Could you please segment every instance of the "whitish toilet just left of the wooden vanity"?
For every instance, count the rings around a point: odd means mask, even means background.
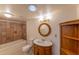
[[[26,45],[22,47],[24,54],[32,54],[32,41],[33,39],[27,40]]]

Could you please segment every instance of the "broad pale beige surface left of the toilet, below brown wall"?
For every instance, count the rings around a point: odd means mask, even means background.
[[[10,43],[0,45],[0,55],[23,55],[22,47],[26,45],[26,40],[20,39]]]

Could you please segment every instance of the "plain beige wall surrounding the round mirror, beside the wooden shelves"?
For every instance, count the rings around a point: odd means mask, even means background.
[[[51,7],[53,8],[53,7]],[[53,10],[52,10],[53,12]],[[52,32],[48,37],[42,37],[38,33],[38,26],[40,22],[37,19],[28,19],[27,20],[27,39],[36,39],[44,38],[50,39],[53,41],[53,53],[60,54],[60,28],[59,23],[72,20],[76,18],[76,6],[64,7],[63,9],[58,10],[57,13],[53,15],[53,18],[50,20],[49,24],[51,25]],[[56,35],[56,37],[55,37]]]

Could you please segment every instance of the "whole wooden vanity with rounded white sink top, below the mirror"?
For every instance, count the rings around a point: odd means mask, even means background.
[[[33,54],[34,55],[52,55],[52,42],[47,40],[34,40],[33,41]]]

